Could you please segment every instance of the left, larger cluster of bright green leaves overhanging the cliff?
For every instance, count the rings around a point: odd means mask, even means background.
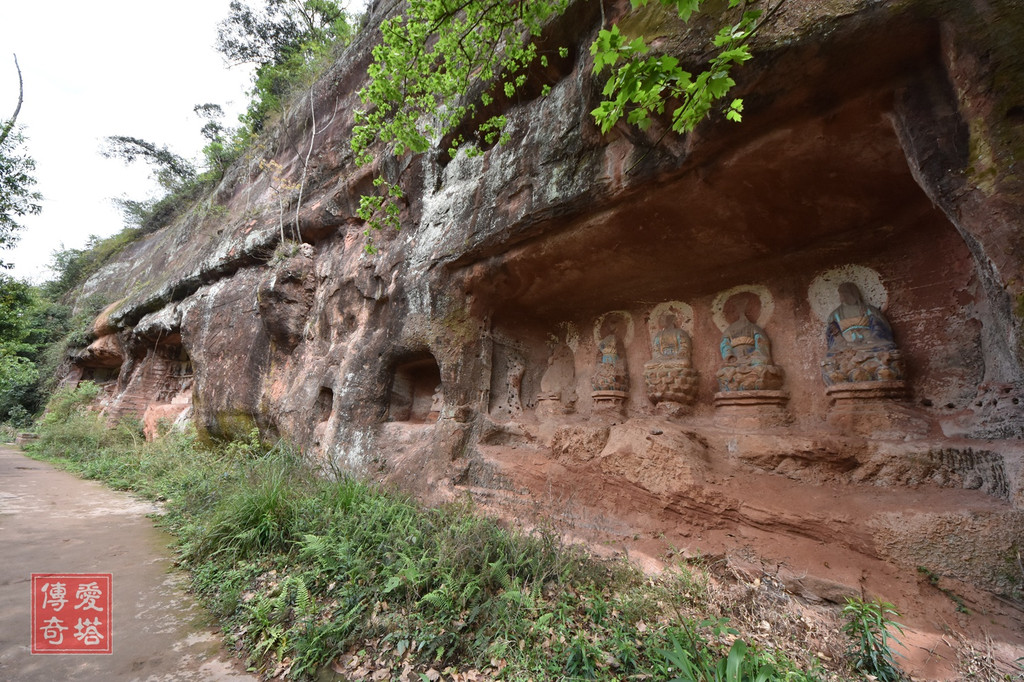
[[[359,91],[367,109],[356,113],[352,148],[356,163],[373,161],[380,141],[400,157],[426,152],[463,120],[490,104],[495,89],[511,97],[525,84],[525,70],[548,55],[537,39],[570,0],[410,0],[404,11],[381,25],[369,84]],[[525,37],[525,38],[524,38]],[[485,90],[466,96],[477,82]],[[507,141],[505,118],[480,126],[486,143]],[[464,140],[456,139],[452,152]],[[378,195],[365,196],[359,216],[375,227],[398,227],[396,182],[377,177]]]

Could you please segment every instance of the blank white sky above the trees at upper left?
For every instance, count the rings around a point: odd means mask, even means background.
[[[61,244],[124,226],[112,198],[157,194],[150,167],[99,156],[108,135],[131,135],[198,161],[205,140],[196,104],[244,111],[247,68],[228,69],[213,48],[229,0],[0,0],[0,120],[17,102],[17,54],[25,79],[18,116],[36,160],[43,211],[20,224],[20,242],[0,253],[14,276],[39,283]]]

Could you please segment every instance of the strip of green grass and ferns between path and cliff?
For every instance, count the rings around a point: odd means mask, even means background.
[[[144,442],[137,424],[109,428],[84,410],[92,390],[57,394],[33,452],[165,501],[193,590],[267,676],[311,679],[333,664],[348,679],[384,668],[421,679],[837,679],[730,627],[699,567],[647,577],[550,529],[504,527],[469,501],[428,509],[318,475],[258,437]]]

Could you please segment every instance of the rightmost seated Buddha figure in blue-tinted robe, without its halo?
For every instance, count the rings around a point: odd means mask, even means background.
[[[882,310],[864,302],[857,285],[839,286],[839,306],[828,314],[821,363],[825,384],[901,381],[903,357]]]

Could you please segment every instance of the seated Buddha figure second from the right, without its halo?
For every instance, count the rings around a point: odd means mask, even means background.
[[[739,317],[722,335],[719,349],[725,365],[718,371],[719,390],[760,391],[782,387],[782,368],[772,364],[771,341],[765,331],[746,316],[739,300]]]

